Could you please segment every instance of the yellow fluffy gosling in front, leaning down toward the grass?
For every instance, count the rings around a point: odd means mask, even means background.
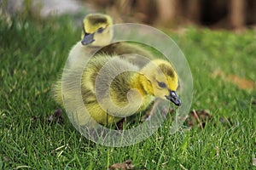
[[[115,76],[116,71],[123,72]],[[155,98],[181,105],[177,86],[177,73],[166,60],[154,59],[139,70],[137,65],[118,56],[98,55],[90,59],[84,69],[81,91],[89,115],[109,126],[123,117],[147,110]],[[77,116],[80,125],[90,122],[90,117],[82,112]]]

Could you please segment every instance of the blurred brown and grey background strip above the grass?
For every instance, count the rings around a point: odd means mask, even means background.
[[[211,28],[255,28],[254,0],[1,0],[9,13],[32,6],[32,13],[78,14],[103,12],[116,22],[140,22],[154,26],[209,26]],[[26,4],[24,4],[26,3]],[[31,3],[31,4],[30,4]]]

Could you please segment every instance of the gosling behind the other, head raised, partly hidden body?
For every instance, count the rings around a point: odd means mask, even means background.
[[[138,54],[152,59],[146,49],[131,42],[115,42],[113,38],[113,20],[107,14],[87,14],[83,20],[81,41],[77,42],[69,53],[68,68],[75,68],[89,59],[91,54]],[[133,58],[132,58],[133,59]],[[129,58],[129,60],[131,60]]]

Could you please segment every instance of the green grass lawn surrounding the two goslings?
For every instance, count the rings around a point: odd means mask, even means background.
[[[170,32],[194,77],[191,110],[210,111],[212,121],[173,135],[165,122],[144,142],[121,148],[84,139],[65,114],[63,123],[47,121],[59,107],[51,86],[79,40],[70,18],[21,15],[10,24],[2,17],[0,32],[0,169],[106,169],[128,159],[136,169],[256,169],[255,88],[225,80],[232,74],[255,84],[254,31]],[[213,77],[216,70],[225,76]]]

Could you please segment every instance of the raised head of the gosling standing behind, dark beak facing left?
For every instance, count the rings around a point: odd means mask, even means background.
[[[83,20],[81,43],[90,46],[108,45],[113,37],[113,21],[107,14],[88,14]]]

